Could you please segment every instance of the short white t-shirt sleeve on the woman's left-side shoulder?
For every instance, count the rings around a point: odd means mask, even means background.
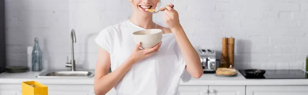
[[[94,39],[94,41],[100,46],[102,47],[102,49],[104,49],[105,51],[107,51],[108,53],[110,53],[110,47],[111,47],[111,35],[109,33],[110,31],[108,31],[107,28],[103,29],[99,35]]]

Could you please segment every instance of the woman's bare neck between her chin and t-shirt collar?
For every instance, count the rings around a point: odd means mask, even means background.
[[[144,29],[153,29],[156,26],[156,23],[154,23],[152,20],[152,16],[141,16],[137,14],[132,14],[129,20],[130,22]]]

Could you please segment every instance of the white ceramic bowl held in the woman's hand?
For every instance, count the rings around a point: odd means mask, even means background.
[[[147,29],[133,32],[132,35],[135,43],[141,42],[142,49],[150,49],[162,41],[163,31],[161,29]]]

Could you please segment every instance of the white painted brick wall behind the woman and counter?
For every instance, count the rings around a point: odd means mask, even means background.
[[[222,37],[235,37],[237,68],[305,66],[308,0],[162,0],[162,5],[169,2],[194,46],[219,51]],[[44,64],[65,68],[74,29],[77,65],[93,69],[98,49],[93,39],[131,12],[126,0],[6,0],[8,64],[26,65],[27,46],[38,37]],[[162,14],[157,19],[165,26]]]

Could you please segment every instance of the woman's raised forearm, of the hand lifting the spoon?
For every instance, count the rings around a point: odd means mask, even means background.
[[[200,78],[203,74],[200,57],[194,46],[189,42],[182,26],[171,29],[171,31],[180,46],[188,73],[194,78]]]

